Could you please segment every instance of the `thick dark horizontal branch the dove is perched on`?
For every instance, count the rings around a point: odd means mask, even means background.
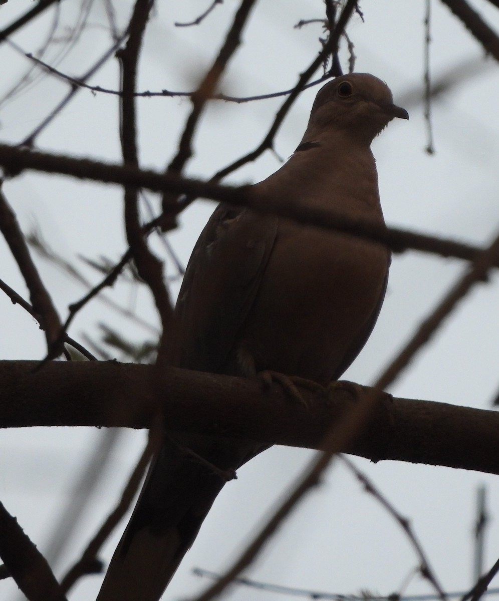
[[[302,392],[309,407],[274,386],[116,362],[0,361],[0,427],[146,428],[161,408],[172,430],[235,435],[320,448],[328,429],[358,402],[344,389],[329,399]],[[371,389],[366,388],[366,394]],[[158,401],[157,399],[161,399]],[[362,436],[341,449],[374,462],[393,459],[499,474],[499,413],[432,401],[383,398]]]

